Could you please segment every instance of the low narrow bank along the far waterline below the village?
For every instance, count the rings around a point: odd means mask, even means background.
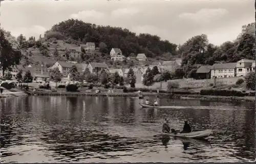
[[[37,96],[108,96],[108,97],[138,97],[137,92],[52,92],[52,91],[35,91],[30,92],[32,95]],[[211,101],[244,101],[255,102],[255,97],[225,97],[225,96],[201,96],[201,95],[172,95],[170,93],[156,93],[156,92],[143,92],[144,97],[168,97],[173,99],[199,99],[199,100],[211,100]]]

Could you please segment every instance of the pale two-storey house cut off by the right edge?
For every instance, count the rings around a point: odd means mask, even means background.
[[[253,64],[254,63],[254,64]],[[254,65],[254,66],[253,66]],[[246,74],[255,71],[255,60],[242,59],[237,62],[237,77],[246,76]]]

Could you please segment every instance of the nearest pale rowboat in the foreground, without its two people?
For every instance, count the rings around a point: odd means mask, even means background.
[[[198,129],[198,130],[192,130],[190,133],[172,132],[172,133],[162,133],[162,135],[184,137],[184,138],[205,138],[209,136],[210,133],[211,133],[211,129]]]

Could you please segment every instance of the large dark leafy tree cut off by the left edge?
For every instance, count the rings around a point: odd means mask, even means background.
[[[22,54],[12,48],[12,44],[5,38],[3,30],[0,30],[0,54],[0,67],[2,67],[3,74],[9,67],[18,65],[22,59]]]

